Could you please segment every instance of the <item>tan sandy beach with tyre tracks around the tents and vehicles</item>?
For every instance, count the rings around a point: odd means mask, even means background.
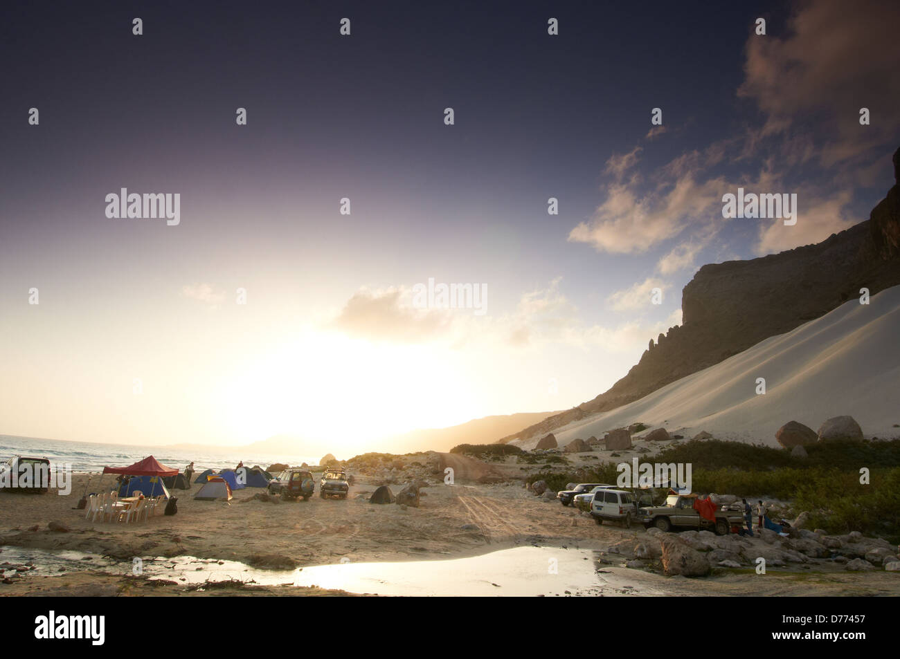
[[[573,456],[594,461],[602,453]],[[417,456],[401,458],[416,462]],[[446,455],[446,459],[458,459]],[[465,460],[468,465],[474,463]],[[375,505],[369,494],[383,478],[356,476],[347,500],[320,499],[262,501],[263,490],[237,490],[230,502],[196,501],[199,485],[176,490],[178,513],[157,515],[146,523],[110,523],[85,520],[75,510],[85,489],[84,475],[75,476],[71,494],[0,493],[0,549],[29,548],[77,551],[111,557],[123,565],[134,557],[198,557],[238,561],[263,570],[290,570],[310,565],[441,560],[473,557],[517,547],[593,550],[597,567],[612,570],[617,579],[634,583],[632,592],[672,595],[898,595],[900,575],[848,573],[842,565],[811,561],[807,565],[772,568],[766,578],[750,567],[717,569],[698,579],[667,577],[658,570],[629,569],[625,563],[635,539],[647,539],[643,528],[625,529],[612,523],[599,526],[586,513],[542,501],[512,476],[519,469],[511,462],[477,463],[498,483],[463,478],[444,485],[437,477],[422,488],[419,508],[396,504]],[[465,465],[464,473],[468,474]],[[401,472],[402,473],[402,472]],[[468,474],[471,475],[471,474]],[[318,474],[316,474],[318,476]],[[490,479],[490,478],[489,478]],[[106,476],[105,483],[112,485]],[[96,476],[89,491],[97,485]],[[401,485],[392,485],[394,492]],[[50,530],[56,522],[66,531]],[[0,564],[4,563],[0,551]],[[617,583],[622,583],[617,581]],[[600,589],[602,591],[602,589]],[[342,594],[317,588],[220,584],[202,592],[177,581],[150,582],[134,576],[102,571],[70,570],[58,574],[28,574],[0,584],[0,595],[221,595],[221,594]]]

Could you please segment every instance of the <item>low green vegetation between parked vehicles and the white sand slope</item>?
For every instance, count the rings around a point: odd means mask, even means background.
[[[809,528],[842,534],[858,530],[900,542],[900,440],[829,442],[807,446],[808,458],[790,451],[734,441],[689,441],[639,464],[691,465],[695,492],[792,500],[792,512],[810,514]],[[547,460],[540,460],[546,462]],[[554,490],[568,483],[616,483],[616,462],[596,468],[527,476]],[[860,484],[860,468],[869,484]]]

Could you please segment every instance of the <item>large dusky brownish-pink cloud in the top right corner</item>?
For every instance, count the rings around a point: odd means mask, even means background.
[[[897,25],[896,2],[823,0],[798,5],[785,36],[752,35],[737,94],[764,113],[761,137],[815,125],[830,136],[822,165],[870,158],[900,126]],[[872,112],[869,126],[860,126],[862,107]]]

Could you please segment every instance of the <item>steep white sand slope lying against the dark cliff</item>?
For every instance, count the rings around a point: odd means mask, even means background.
[[[756,378],[766,393],[756,394]],[[900,437],[900,286],[859,299],[773,336],[706,370],[681,378],[615,410],[554,432],[560,446],[577,437],[630,423],[665,427],[691,437],[778,446],[775,432],[788,421],[817,431],[825,419],[850,414],[866,437]],[[523,449],[539,438],[516,441]]]

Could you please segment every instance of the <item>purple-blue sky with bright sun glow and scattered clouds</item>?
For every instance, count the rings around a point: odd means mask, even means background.
[[[5,434],[377,450],[566,409],[702,264],[867,219],[900,144],[896,3],[0,13]],[[797,224],[723,218],[739,187]],[[122,188],[177,224],[108,217]]]

